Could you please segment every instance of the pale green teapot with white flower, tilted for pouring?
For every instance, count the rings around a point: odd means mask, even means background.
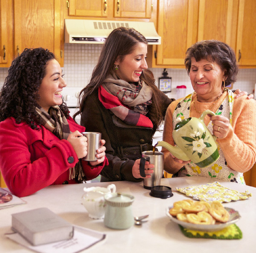
[[[219,153],[216,144],[217,137],[212,136],[204,124],[204,117],[207,114],[215,115],[212,111],[206,110],[199,119],[195,117],[180,119],[172,132],[177,146],[164,141],[157,142],[156,146],[166,148],[178,159],[191,160],[200,168],[211,165],[219,158]]]

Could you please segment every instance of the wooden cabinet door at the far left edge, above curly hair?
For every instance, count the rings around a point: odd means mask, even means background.
[[[0,0],[0,67],[9,67],[13,59],[12,49],[12,1]]]

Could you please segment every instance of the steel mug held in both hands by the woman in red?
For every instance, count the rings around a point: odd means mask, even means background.
[[[97,149],[101,146],[101,133],[97,132],[83,132],[87,137],[87,155],[83,158],[85,161],[97,161]]]

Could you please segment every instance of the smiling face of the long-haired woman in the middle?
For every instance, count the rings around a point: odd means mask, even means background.
[[[115,70],[118,77],[126,82],[138,82],[143,69],[147,69],[146,54],[148,51],[147,44],[139,42],[134,46],[131,54],[127,54],[120,60],[117,57]]]

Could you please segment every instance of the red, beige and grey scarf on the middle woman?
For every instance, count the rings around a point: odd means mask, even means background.
[[[152,93],[142,80],[128,83],[111,74],[99,87],[99,100],[126,124],[153,128],[153,123],[145,116],[152,103]]]

